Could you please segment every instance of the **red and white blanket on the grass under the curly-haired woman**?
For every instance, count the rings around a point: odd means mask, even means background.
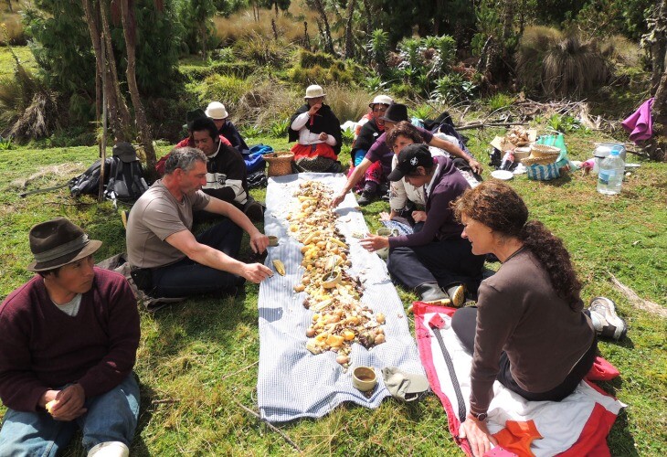
[[[454,308],[414,303],[415,333],[421,362],[426,368],[430,387],[447,412],[450,432],[463,452],[471,455],[468,441],[458,438],[459,415],[470,407],[471,356],[451,329],[450,316],[455,311]],[[465,409],[460,408],[450,369],[438,338],[429,326],[436,314],[445,321],[439,332],[453,362]],[[588,379],[614,376],[618,376],[618,370],[598,357]],[[609,455],[607,435],[619,410],[625,407],[588,380],[581,381],[577,389],[560,402],[528,401],[499,382],[493,385],[493,393],[487,421],[499,446],[487,455]]]

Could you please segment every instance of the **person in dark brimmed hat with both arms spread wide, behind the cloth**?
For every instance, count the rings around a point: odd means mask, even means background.
[[[345,195],[352,190],[352,188],[364,177],[366,170],[371,165],[379,161],[382,164],[382,173],[384,179],[391,172],[391,163],[394,158],[394,153],[391,151],[389,146],[386,144],[386,136],[391,133],[391,131],[396,127],[398,122],[409,121],[408,118],[408,107],[402,103],[393,103],[389,105],[389,108],[386,109],[385,115],[379,117],[379,119],[385,122],[385,133],[381,134],[375,143],[368,149],[368,152],[365,154],[364,160],[356,166],[355,171],[348,176],[347,183],[345,184],[343,190],[334,197],[332,205],[337,207],[344,200]],[[440,149],[447,151],[452,158],[461,157],[465,160],[468,165],[470,165],[471,170],[474,173],[482,173],[482,165],[477,162],[470,155],[465,154],[465,152],[457,144],[451,143],[447,140],[442,140],[436,136],[433,136],[433,133],[430,133],[426,129],[420,127],[417,128],[419,134],[424,139],[424,143],[429,144],[429,146],[435,146]],[[359,200],[359,204],[367,204],[373,199],[372,195],[364,195]]]

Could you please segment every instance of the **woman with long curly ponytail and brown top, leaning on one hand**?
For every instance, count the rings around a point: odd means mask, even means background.
[[[593,366],[597,338],[563,241],[528,221],[512,187],[484,182],[452,207],[472,252],[503,262],[480,285],[477,307],[461,308],[451,323],[472,354],[471,406],[460,436],[477,456],[494,442],[485,423],[493,381],[524,399],[565,399]]]

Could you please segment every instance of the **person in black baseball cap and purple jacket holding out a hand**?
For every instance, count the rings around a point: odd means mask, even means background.
[[[410,144],[398,154],[390,181],[403,179],[423,186],[426,222],[410,235],[362,239],[366,250],[389,248],[387,269],[397,282],[414,289],[421,300],[447,298],[441,287],[464,282],[474,295],[482,280],[484,256],[472,253],[471,243],[461,238],[463,226],[454,218],[450,203],[470,188],[448,157],[432,157],[426,144]]]

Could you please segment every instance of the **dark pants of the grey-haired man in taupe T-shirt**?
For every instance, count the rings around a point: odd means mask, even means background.
[[[196,237],[201,244],[236,258],[243,230],[226,218]],[[225,293],[245,280],[228,271],[206,267],[187,257],[171,265],[152,269],[155,297],[187,297],[209,292]]]

